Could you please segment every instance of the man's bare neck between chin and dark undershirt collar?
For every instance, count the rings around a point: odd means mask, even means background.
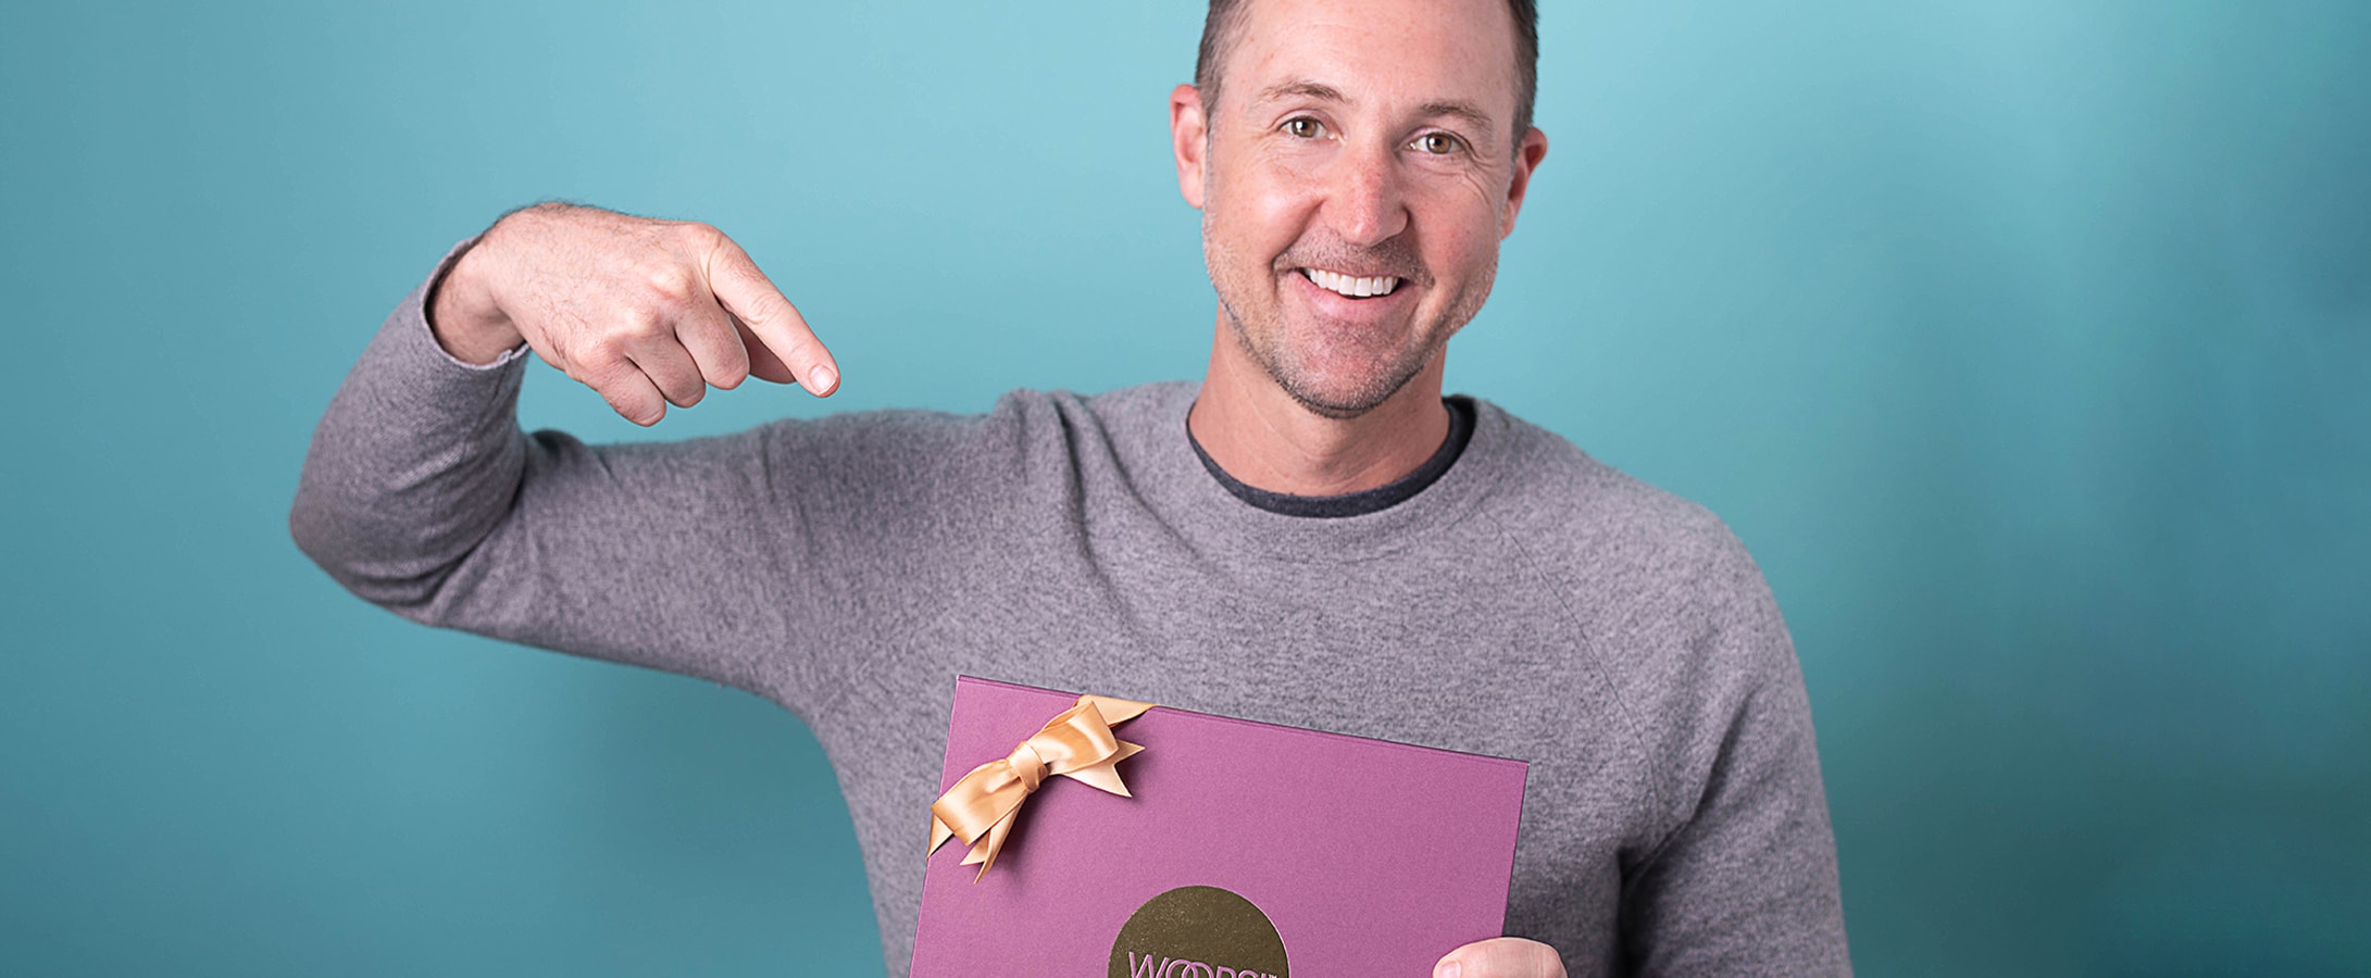
[[[1228,476],[1283,495],[1347,495],[1401,478],[1449,438],[1442,358],[1359,417],[1323,417],[1268,379],[1219,315],[1209,374],[1186,417]]]

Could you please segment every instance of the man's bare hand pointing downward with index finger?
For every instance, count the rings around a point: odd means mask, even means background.
[[[756,377],[818,398],[839,367],[790,298],[721,230],[569,204],[498,220],[429,303],[436,341],[493,362],[526,341],[633,424]]]

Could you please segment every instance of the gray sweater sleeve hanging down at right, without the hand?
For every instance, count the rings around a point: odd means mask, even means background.
[[[1811,703],[1762,571],[1726,528],[1700,573],[1700,701],[1676,826],[1624,871],[1624,957],[1643,976],[1845,976],[1835,836]]]

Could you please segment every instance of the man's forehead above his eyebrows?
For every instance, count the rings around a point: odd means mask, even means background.
[[[1226,85],[1247,104],[1389,102],[1420,114],[1513,114],[1506,0],[1247,0]]]

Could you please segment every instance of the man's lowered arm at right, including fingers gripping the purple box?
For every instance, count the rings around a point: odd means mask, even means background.
[[[1769,585],[1726,526],[1688,507],[1695,554],[1655,578],[1657,620],[1683,649],[1622,684],[1653,715],[1641,763],[1662,836],[1622,862],[1619,973],[1842,976],[1835,838],[1795,644]],[[1581,973],[1596,950],[1567,947]],[[1434,978],[1565,978],[1558,950],[1494,938],[1439,959]]]

